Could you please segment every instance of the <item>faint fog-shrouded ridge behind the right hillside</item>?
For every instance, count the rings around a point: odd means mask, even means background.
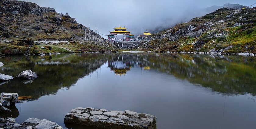
[[[166,18],[166,20],[162,20],[161,25],[158,25],[155,28],[148,29],[148,31],[151,32],[151,33],[157,33],[157,32],[160,32],[162,30],[172,28],[176,24],[179,24],[179,23],[182,23],[182,22],[188,22],[188,21],[190,21],[191,19],[193,19],[195,17],[204,16],[208,13],[214,12],[214,11],[220,9],[220,8],[223,8],[223,7],[229,7],[229,8],[233,8],[233,9],[240,9],[240,8],[244,8],[244,7],[247,7],[247,6],[239,5],[239,4],[224,4],[222,6],[213,5],[213,6],[207,7],[207,8],[195,8],[195,10],[193,10],[191,12],[188,12],[188,13],[190,13],[190,15],[188,14],[186,16],[180,17],[180,19],[178,19],[178,20],[173,20],[171,18]]]

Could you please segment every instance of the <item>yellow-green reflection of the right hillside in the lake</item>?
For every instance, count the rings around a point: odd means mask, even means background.
[[[129,56],[126,62],[170,73],[218,92],[256,94],[256,58],[253,56],[121,53],[109,59],[117,61],[123,55]]]

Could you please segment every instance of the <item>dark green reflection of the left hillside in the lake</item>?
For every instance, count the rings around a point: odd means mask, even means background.
[[[51,56],[7,56],[2,58],[4,73],[16,76],[24,70],[32,70],[38,78],[31,84],[24,84],[18,79],[1,85],[3,92],[15,92],[20,96],[32,96],[37,99],[42,95],[57,93],[58,89],[69,88],[82,78],[103,65],[105,54],[60,54]],[[11,67],[11,69],[9,69]],[[26,99],[25,99],[26,100]]]

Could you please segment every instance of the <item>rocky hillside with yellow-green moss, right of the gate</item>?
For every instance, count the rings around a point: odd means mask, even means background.
[[[153,34],[152,51],[256,53],[256,10],[221,8]]]

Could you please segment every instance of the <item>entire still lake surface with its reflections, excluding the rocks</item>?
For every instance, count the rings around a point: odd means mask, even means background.
[[[36,117],[64,128],[76,107],[132,110],[155,115],[158,129],[255,129],[256,57],[163,53],[93,53],[5,56],[0,73],[32,70],[38,78],[14,78],[0,93],[23,100],[11,116]],[[25,84],[27,83],[27,84]]]

